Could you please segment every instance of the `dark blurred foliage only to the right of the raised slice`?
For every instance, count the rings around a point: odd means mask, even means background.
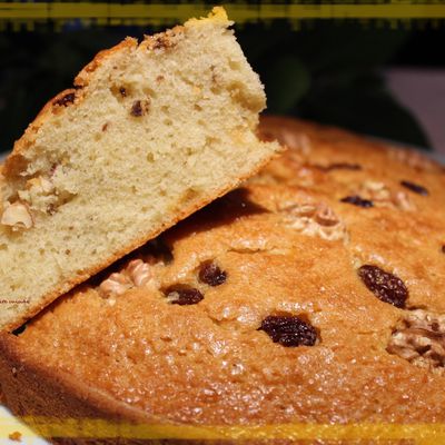
[[[270,112],[428,146],[414,116],[390,95],[380,75],[408,31],[366,29],[348,21],[319,21],[298,32],[279,22],[266,32],[246,31],[240,41],[266,85]]]

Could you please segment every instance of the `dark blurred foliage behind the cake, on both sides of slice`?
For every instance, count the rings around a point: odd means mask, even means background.
[[[0,150],[12,148],[44,102],[72,85],[100,49],[147,29],[70,29],[0,34]],[[286,21],[247,24],[238,40],[260,75],[268,112],[293,115],[427,147],[415,118],[390,96],[382,68],[408,31],[316,21],[295,31]]]

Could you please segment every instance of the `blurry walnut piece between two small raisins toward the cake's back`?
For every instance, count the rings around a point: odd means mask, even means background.
[[[400,210],[414,209],[414,204],[405,191],[390,190],[384,182],[365,181],[359,187],[358,195],[373,201],[376,207],[396,207]]]

